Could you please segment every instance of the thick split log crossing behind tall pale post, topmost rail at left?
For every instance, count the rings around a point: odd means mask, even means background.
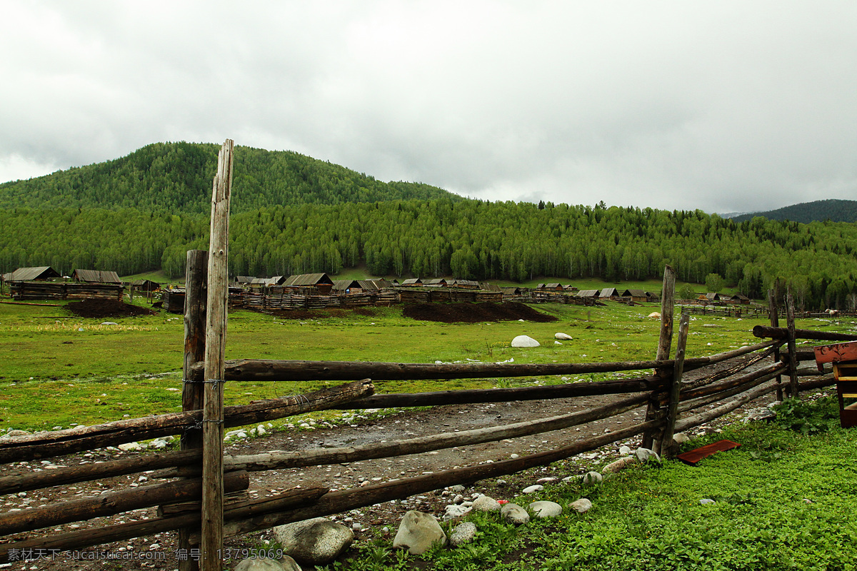
[[[286,396],[249,405],[224,407],[225,425],[227,427],[249,425],[267,419],[279,419],[314,410],[327,410],[360,396],[371,395],[374,391],[374,385],[367,379],[340,387],[316,390],[306,395]],[[201,419],[201,411],[169,413],[14,437],[0,442],[0,461],[33,460],[135,440],[181,434],[189,426],[198,425]]]

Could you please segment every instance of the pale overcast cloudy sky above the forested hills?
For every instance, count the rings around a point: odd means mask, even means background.
[[[0,181],[156,141],[480,199],[857,198],[857,3],[0,0]]]

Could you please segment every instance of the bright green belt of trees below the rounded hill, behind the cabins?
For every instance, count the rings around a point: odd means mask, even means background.
[[[162,268],[179,277],[185,252],[207,248],[208,224],[194,212],[0,211],[0,269],[129,275]],[[753,298],[779,282],[806,308],[846,308],[857,297],[857,226],[850,223],[735,223],[702,211],[444,198],[266,206],[234,214],[230,232],[232,275],[366,265],[374,276],[620,283],[659,278],[669,264],[680,280],[720,278]]]

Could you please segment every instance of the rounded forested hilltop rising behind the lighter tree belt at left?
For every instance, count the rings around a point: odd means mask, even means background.
[[[154,143],[127,157],[27,181],[0,184],[0,208],[134,208],[207,213],[219,145]],[[274,205],[335,205],[407,199],[461,199],[418,182],[382,182],[297,152],[238,146],[232,211]]]

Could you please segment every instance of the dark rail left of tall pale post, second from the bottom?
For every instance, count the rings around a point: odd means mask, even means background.
[[[250,480],[248,473],[242,471],[227,474],[224,482],[227,490],[237,491],[247,490]],[[30,532],[42,527],[121,514],[132,509],[156,506],[159,503],[195,499],[201,496],[201,490],[202,480],[196,478],[181,482],[144,485],[131,490],[111,491],[98,497],[81,497],[44,508],[7,512],[0,514],[0,535]]]

